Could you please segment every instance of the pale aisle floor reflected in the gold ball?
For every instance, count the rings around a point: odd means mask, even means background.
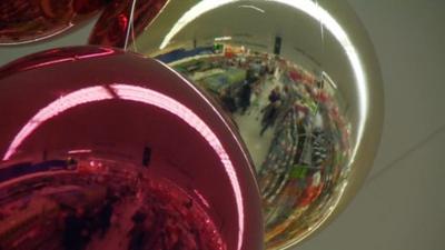
[[[268,79],[263,83],[260,96],[258,97],[258,107],[250,104],[245,114],[238,112],[234,114],[234,120],[239,127],[239,132],[250,152],[255,168],[258,171],[263,162],[266,160],[269,151],[270,142],[274,139],[274,129],[269,128],[263,134],[260,110],[269,103],[268,96],[270,91],[278,84],[274,79]]]

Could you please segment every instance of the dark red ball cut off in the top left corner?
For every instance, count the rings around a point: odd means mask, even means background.
[[[38,41],[91,17],[109,0],[2,0],[0,44]]]

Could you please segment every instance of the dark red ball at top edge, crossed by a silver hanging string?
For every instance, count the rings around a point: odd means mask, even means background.
[[[123,48],[127,37],[132,0],[117,0],[108,6],[91,32],[89,43]],[[132,37],[137,37],[157,17],[167,0],[136,1]]]

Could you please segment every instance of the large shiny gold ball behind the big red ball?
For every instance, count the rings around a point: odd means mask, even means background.
[[[373,46],[344,1],[169,1],[128,48],[168,63],[237,124],[258,172],[266,248],[342,210],[380,137]]]

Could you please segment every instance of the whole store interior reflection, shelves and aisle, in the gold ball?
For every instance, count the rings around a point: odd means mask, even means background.
[[[259,174],[268,247],[318,221],[347,172],[348,128],[330,78],[228,43],[174,50],[158,59],[233,114]]]

